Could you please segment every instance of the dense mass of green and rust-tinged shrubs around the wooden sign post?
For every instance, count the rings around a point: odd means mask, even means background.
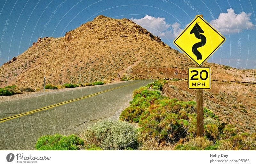
[[[204,137],[196,137],[196,102],[169,99],[148,88],[161,89],[158,83],[135,90],[130,107],[120,115],[122,121],[138,123],[141,149],[171,145],[175,150],[256,150],[256,133],[238,133],[207,108]]]

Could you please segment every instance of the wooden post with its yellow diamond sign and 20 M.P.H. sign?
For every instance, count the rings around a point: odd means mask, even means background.
[[[203,63],[225,41],[203,15],[196,18],[173,41],[199,67],[188,67],[188,89],[196,89],[196,136],[204,134],[204,89],[211,89],[211,68]]]

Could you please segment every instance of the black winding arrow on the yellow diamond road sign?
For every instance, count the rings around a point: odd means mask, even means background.
[[[190,34],[194,34],[196,38],[201,39],[201,42],[198,42],[193,45],[192,52],[196,55],[196,59],[202,59],[202,54],[197,50],[199,47],[203,47],[206,43],[206,37],[200,33],[204,33],[203,29],[196,23],[195,26],[190,31]]]

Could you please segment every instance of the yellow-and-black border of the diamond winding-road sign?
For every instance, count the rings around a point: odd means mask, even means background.
[[[198,17],[199,17],[200,19],[202,19],[208,26],[210,26],[216,33],[218,33],[218,34],[223,38],[223,41],[215,48],[215,50],[212,51],[212,53],[210,53],[210,55],[209,55],[201,64],[198,64],[198,63],[197,63],[194,59],[192,59],[178,44],[175,43],[176,40],[178,40],[178,38],[188,29],[188,27],[189,27]],[[200,66],[202,66],[202,65],[204,64],[204,62],[205,62],[206,60],[208,60],[208,59],[212,56],[212,54],[213,54],[213,53],[221,46],[221,44],[224,43],[225,41],[226,41],[226,38],[225,38],[224,36],[222,36],[214,27],[212,27],[211,24],[209,24],[206,20],[204,20],[201,16],[198,15],[198,16],[196,16],[195,19],[192,20],[192,21],[190,22],[190,24],[180,33],[180,35],[175,38],[175,40],[173,41],[173,43],[174,43],[174,45],[176,45],[178,48],[180,48],[180,50],[183,51],[183,53],[186,54],[193,62],[195,62],[197,66],[200,67]]]

